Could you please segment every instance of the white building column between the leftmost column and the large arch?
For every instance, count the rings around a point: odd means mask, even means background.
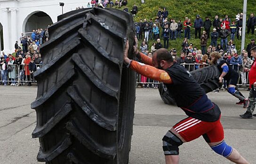
[[[15,42],[18,40],[16,15],[17,8],[9,8],[9,11],[11,11],[11,50],[15,50],[14,45]]]

